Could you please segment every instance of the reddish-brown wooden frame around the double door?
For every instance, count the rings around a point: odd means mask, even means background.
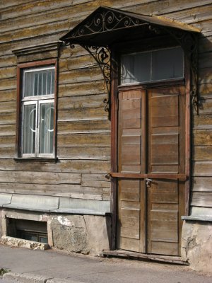
[[[111,54],[111,172],[117,172],[117,130],[118,130],[118,82],[119,82],[119,51],[114,48]],[[185,191],[184,191],[184,214],[189,215],[189,192],[190,192],[190,175],[191,175],[191,71],[189,59],[184,54],[184,86],[185,86]],[[140,84],[140,88],[148,85],[151,88],[162,86],[172,86],[179,80],[155,82],[148,84]],[[181,80],[182,81],[182,80]],[[136,86],[132,86],[135,88]],[[130,86],[128,86],[130,88]],[[112,212],[112,234],[111,234],[111,249],[115,250],[117,247],[117,178],[111,176],[111,212]],[[180,229],[179,235],[182,233]],[[179,240],[180,243],[180,240]]]

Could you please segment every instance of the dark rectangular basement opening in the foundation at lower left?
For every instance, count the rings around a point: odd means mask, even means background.
[[[7,224],[7,236],[48,243],[47,222],[10,218]]]

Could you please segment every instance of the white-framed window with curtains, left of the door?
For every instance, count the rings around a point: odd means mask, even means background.
[[[54,157],[55,64],[20,68],[19,157]]]

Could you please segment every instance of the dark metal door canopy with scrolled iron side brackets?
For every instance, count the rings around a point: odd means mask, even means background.
[[[75,28],[60,38],[66,45],[75,44],[84,47],[100,66],[108,98],[105,110],[110,119],[111,104],[111,51],[112,46],[126,43],[131,40],[142,40],[154,35],[168,35],[180,45],[191,64],[191,97],[192,104],[198,114],[199,98],[197,93],[198,82],[198,36],[199,28],[186,23],[180,23],[161,16],[146,16],[138,13],[122,11],[115,8],[100,6]]]

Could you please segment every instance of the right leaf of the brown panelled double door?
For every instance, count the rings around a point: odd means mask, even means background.
[[[184,173],[184,88],[148,91],[148,112],[148,173]],[[148,188],[148,253],[179,255],[183,206],[178,180],[153,180]]]

